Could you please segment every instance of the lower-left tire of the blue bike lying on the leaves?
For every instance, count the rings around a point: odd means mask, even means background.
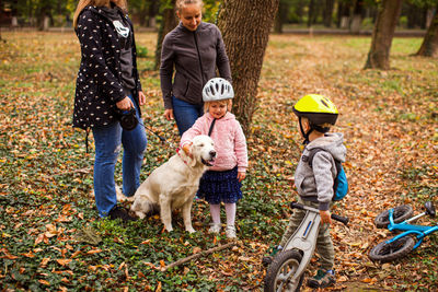
[[[411,236],[404,236],[393,243],[381,242],[369,253],[373,261],[389,262],[406,256],[414,248],[415,241]]]

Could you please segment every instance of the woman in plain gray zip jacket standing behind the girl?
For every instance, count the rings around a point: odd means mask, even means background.
[[[164,116],[176,120],[180,136],[204,114],[201,91],[216,77],[216,69],[231,81],[221,33],[215,24],[201,22],[201,0],[177,0],[180,24],[164,37],[161,49]]]

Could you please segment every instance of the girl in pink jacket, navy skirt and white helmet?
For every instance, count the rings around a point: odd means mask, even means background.
[[[233,97],[230,82],[221,78],[209,80],[203,90],[205,114],[181,138],[181,148],[188,155],[195,136],[208,135],[215,141],[215,165],[200,179],[197,196],[210,205],[210,233],[220,232],[220,203],[224,203],[228,238],[235,238],[235,202],[242,198],[241,182],[247,168],[245,136],[234,115],[228,112]]]

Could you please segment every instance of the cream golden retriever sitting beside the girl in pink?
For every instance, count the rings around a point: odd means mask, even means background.
[[[161,221],[171,232],[172,210],[182,209],[185,230],[192,226],[192,203],[199,187],[199,179],[216,157],[210,137],[200,135],[192,140],[191,155],[177,151],[168,162],[155,168],[134,195],[130,210],[140,219],[153,210],[160,210]]]

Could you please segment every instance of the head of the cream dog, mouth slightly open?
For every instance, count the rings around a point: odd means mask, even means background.
[[[207,166],[212,166],[216,159],[215,143],[210,137],[199,135],[193,138],[191,145],[191,153],[193,156],[192,166],[197,163],[203,163]]]

